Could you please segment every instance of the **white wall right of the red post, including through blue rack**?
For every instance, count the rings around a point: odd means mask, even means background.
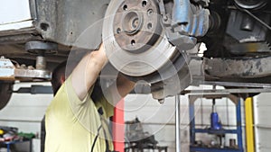
[[[158,103],[151,94],[129,94],[125,98],[125,121],[132,121],[137,117],[143,123],[145,131],[154,134],[160,146],[168,146],[169,152],[175,151],[175,101],[174,98],[166,98],[164,104]],[[195,102],[195,121],[197,127],[206,129],[210,127],[210,112],[212,100],[199,99]],[[216,102],[217,112],[220,115],[223,128],[235,129],[236,106],[227,98],[218,99]],[[244,120],[244,109],[242,105],[242,120]],[[189,109],[188,96],[181,96],[181,134],[182,151],[189,151]],[[245,141],[245,121],[242,121],[243,141]],[[214,136],[198,134],[197,140],[210,144]],[[229,139],[237,139],[236,135],[226,135],[226,145]],[[245,145],[244,145],[245,148]]]

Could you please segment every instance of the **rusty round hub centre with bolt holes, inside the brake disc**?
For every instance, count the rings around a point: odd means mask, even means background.
[[[159,10],[154,1],[126,0],[114,18],[114,36],[121,49],[142,53],[150,49],[162,33]]]

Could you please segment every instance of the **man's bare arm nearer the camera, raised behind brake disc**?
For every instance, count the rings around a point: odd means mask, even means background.
[[[80,100],[83,100],[89,88],[95,84],[99,72],[107,64],[107,55],[103,45],[97,51],[91,51],[79,61],[71,73],[71,84]]]

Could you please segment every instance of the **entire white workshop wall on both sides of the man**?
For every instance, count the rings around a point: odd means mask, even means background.
[[[50,85],[50,83],[38,83],[35,85]],[[16,84],[14,85],[14,90],[22,86],[30,86],[30,84]],[[13,94],[8,105],[0,111],[0,125],[17,127],[20,131],[33,132],[40,135],[42,117],[51,99],[52,94]],[[143,122],[145,131],[154,134],[160,146],[168,146],[168,151],[174,152],[174,98],[167,98],[164,104],[160,104],[152,98],[151,94],[129,94],[126,96],[125,101],[125,121],[132,121],[135,117],[138,117],[139,121]],[[196,123],[205,128],[209,127],[211,100],[199,99],[195,105]],[[229,99],[223,98],[217,101],[217,112],[219,112],[223,125],[236,125],[235,105]],[[189,151],[190,139],[187,96],[181,97],[181,113],[182,151],[186,152]],[[33,140],[33,152],[40,152],[39,138]],[[230,138],[235,137],[227,137],[227,139]],[[208,144],[213,140],[213,137],[202,135],[198,136],[197,139]],[[228,144],[227,139],[226,144]]]

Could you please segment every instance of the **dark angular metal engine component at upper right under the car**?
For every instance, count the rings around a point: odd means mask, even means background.
[[[257,18],[270,23],[270,14],[260,13]],[[230,10],[224,47],[235,55],[248,53],[270,53],[269,31],[261,22],[245,12]]]

